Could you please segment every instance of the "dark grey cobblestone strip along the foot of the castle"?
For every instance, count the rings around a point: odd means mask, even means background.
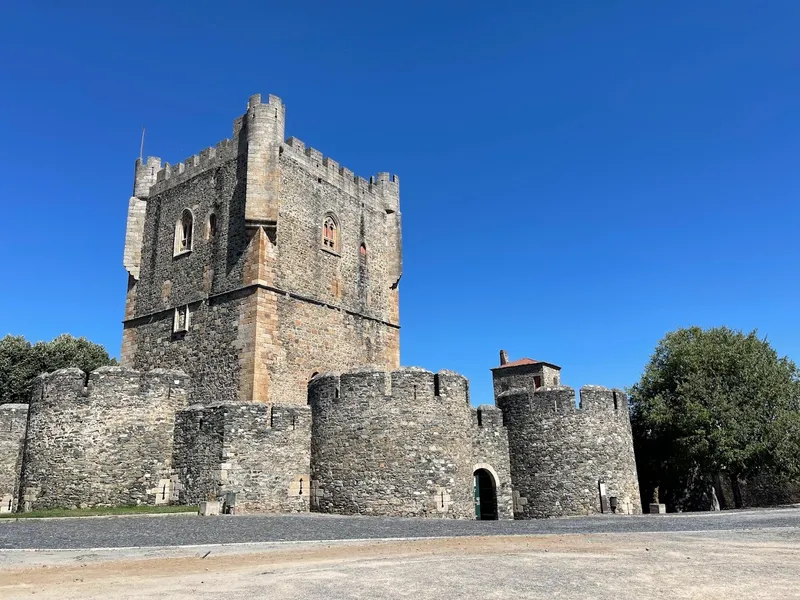
[[[80,549],[480,535],[657,533],[800,527],[800,507],[534,521],[317,514],[0,519],[0,549]]]

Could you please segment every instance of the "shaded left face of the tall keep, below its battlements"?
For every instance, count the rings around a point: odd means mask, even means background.
[[[186,371],[199,402],[239,399],[239,322],[243,299],[252,293],[235,291],[241,288],[249,241],[242,160],[228,159],[151,193],[141,277],[129,292],[135,306],[126,315],[122,363]],[[192,251],[173,256],[175,224],[185,208],[194,215]],[[191,313],[190,330],[174,336],[174,310],[184,305]]]

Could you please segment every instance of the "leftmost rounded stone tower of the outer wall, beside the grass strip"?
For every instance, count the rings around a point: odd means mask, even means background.
[[[38,378],[22,469],[24,510],[168,503],[186,375],[101,367]]]

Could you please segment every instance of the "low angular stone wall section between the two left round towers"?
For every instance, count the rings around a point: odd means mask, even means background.
[[[175,473],[181,504],[224,500],[239,512],[307,512],[311,411],[258,402],[178,413]]]

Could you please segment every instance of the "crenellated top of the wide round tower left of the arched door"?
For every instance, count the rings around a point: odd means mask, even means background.
[[[318,375],[308,384],[309,404],[324,410],[334,405],[382,406],[403,403],[469,404],[469,383],[454,371],[433,373],[419,367],[395,371],[364,368],[335,375]]]

